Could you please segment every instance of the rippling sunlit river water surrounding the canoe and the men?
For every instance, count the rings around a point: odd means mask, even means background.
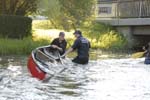
[[[101,59],[75,66],[67,59],[67,70],[42,83],[27,72],[27,57],[2,57],[0,100],[149,100],[150,65],[143,60]]]

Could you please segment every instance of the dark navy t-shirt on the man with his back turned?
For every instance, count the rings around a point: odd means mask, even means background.
[[[79,58],[89,57],[90,42],[86,38],[82,36],[78,37],[72,45],[72,48],[74,50],[77,49]]]

